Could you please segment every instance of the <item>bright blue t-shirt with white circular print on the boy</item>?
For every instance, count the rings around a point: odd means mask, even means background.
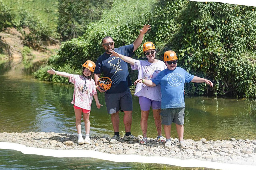
[[[156,85],[161,85],[161,109],[185,107],[184,84],[189,83],[193,78],[193,75],[180,67],[176,67],[173,71],[168,68],[161,71],[152,80]]]

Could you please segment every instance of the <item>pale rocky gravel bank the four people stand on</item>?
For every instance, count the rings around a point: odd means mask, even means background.
[[[85,137],[85,136],[84,136]],[[138,136],[142,138],[142,136]],[[185,140],[188,148],[181,149],[178,139],[172,139],[172,148],[164,148],[164,143],[148,138],[146,145],[137,141],[116,141],[106,136],[91,136],[90,144],[77,144],[77,135],[65,133],[0,133],[0,142],[19,143],[29,147],[46,149],[95,150],[110,154],[135,154],[142,156],[163,156],[177,159],[198,159],[220,163],[256,165],[256,140]]]

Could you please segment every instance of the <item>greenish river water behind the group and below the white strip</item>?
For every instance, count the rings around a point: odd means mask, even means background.
[[[76,134],[72,104],[73,85],[42,82],[22,67],[0,68],[0,132],[63,132]],[[112,136],[110,116],[106,113],[104,95],[98,94],[101,109],[95,101],[90,115],[90,135]],[[185,98],[184,139],[255,139],[256,101],[212,97]],[[132,134],[142,134],[140,107],[133,96]],[[124,131],[120,114],[120,133]],[[84,127],[84,124],[82,124]],[[85,134],[85,129],[82,128]],[[154,119],[148,120],[148,137],[157,136]],[[175,126],[171,137],[178,137]],[[92,158],[52,158],[24,155],[18,151],[0,150],[1,169],[190,169],[162,164],[116,163]],[[201,168],[197,168],[201,169]]]

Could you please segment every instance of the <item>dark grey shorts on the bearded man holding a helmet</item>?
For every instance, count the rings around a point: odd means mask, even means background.
[[[105,102],[108,114],[116,113],[120,109],[123,111],[132,111],[132,94],[129,87],[121,93],[105,93]]]

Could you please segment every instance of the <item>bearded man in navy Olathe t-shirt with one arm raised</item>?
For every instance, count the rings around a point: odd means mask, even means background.
[[[94,81],[96,89],[100,92],[105,92],[105,102],[108,114],[111,114],[111,121],[114,128],[113,139],[118,140],[119,137],[119,110],[124,112],[124,140],[138,141],[139,138],[131,134],[132,125],[132,95],[129,86],[132,85],[128,72],[128,63],[124,62],[122,58],[110,56],[112,53],[110,49],[119,54],[131,57],[134,51],[140,46],[144,34],[151,29],[150,25],[144,25],[137,39],[130,45],[115,48],[115,42],[112,37],[104,37],[102,39],[102,46],[105,52],[99,56],[96,61],[96,68],[94,71]],[[109,77],[112,80],[111,88],[109,90],[102,90],[99,87],[99,77],[103,73],[104,77]]]

